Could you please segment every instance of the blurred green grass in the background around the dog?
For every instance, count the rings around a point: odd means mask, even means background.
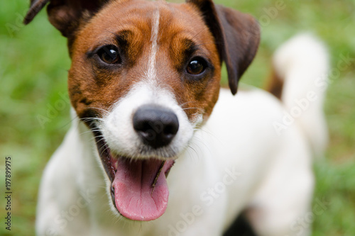
[[[275,48],[303,31],[314,32],[329,45],[332,68],[337,69],[341,55],[355,58],[354,0],[285,0],[285,8],[278,10],[275,17],[267,12],[277,1],[216,2],[249,12],[262,23],[261,47],[243,78],[246,84],[263,87]],[[12,157],[13,169],[13,228],[9,233],[1,223],[0,235],[34,235],[40,176],[70,126],[68,99],[63,100],[60,95],[67,91],[70,67],[66,40],[50,26],[44,11],[24,27],[21,21],[27,9],[25,0],[2,1],[0,7],[1,176],[6,155]],[[324,213],[315,215],[312,234],[315,236],[355,235],[354,65],[353,61],[332,78],[327,93],[325,111],[331,140],[326,158],[315,162],[315,199],[329,205]],[[38,115],[47,116],[50,106],[58,101],[65,101],[64,108],[52,114],[43,127]],[[0,186],[4,192],[4,181]],[[4,206],[1,197],[1,218]]]

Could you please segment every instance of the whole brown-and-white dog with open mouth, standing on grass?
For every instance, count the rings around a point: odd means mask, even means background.
[[[241,214],[256,235],[310,235],[299,221],[327,143],[319,40],[291,39],[268,91],[234,96],[260,40],[249,14],[212,0],[32,0],[24,23],[46,4],[68,42],[73,121],[43,174],[38,235],[216,236]]]

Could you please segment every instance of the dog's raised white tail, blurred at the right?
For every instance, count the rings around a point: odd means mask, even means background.
[[[286,111],[299,107],[296,101],[305,101],[314,92],[315,101],[302,109],[296,118],[310,140],[313,151],[321,155],[327,145],[327,125],[322,110],[324,91],[327,89],[329,57],[326,47],[311,34],[301,34],[284,43],[275,52],[273,64],[280,78],[285,79],[282,101]]]

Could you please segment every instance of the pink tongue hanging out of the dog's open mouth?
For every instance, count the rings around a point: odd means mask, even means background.
[[[163,163],[160,160],[129,161],[119,158],[112,183],[116,208],[131,220],[155,220],[168,206],[168,184],[165,172],[174,161],[165,162],[152,193],[153,181]]]

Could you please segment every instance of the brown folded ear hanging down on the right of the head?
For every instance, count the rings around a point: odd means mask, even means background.
[[[226,63],[229,88],[236,94],[238,82],[251,64],[260,42],[260,28],[255,18],[212,0],[187,0],[200,9],[216,41],[221,61]]]

